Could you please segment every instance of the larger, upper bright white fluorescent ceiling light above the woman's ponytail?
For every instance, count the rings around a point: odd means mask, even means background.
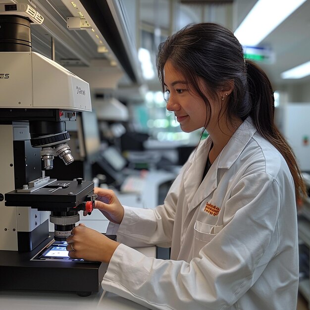
[[[257,46],[306,0],[258,0],[235,31],[244,46]]]

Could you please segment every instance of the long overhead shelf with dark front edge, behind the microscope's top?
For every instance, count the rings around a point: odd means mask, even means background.
[[[143,84],[138,52],[132,40],[132,29],[129,28],[121,0],[32,0],[32,3],[44,17],[42,25],[32,26],[34,52],[51,57],[52,38],[55,42],[54,60],[70,67],[70,71],[74,72],[72,67],[92,68],[94,61],[105,60],[101,62],[104,64],[101,71],[107,79],[108,76],[112,78],[111,70],[114,67],[122,71],[131,84]],[[81,14],[85,15],[92,27],[70,29],[67,18]],[[96,42],[94,36],[101,44]],[[107,51],[104,50],[105,47]]]

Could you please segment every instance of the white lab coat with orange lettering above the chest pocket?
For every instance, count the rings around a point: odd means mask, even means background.
[[[110,224],[121,245],[103,289],[150,309],[295,310],[297,212],[284,158],[248,118],[201,183],[210,145],[190,156],[164,205],[125,207]],[[171,246],[171,259],[130,248],[155,244]]]

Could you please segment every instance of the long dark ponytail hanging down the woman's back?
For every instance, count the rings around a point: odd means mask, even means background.
[[[296,157],[273,122],[274,97],[266,74],[252,61],[246,60],[248,91],[251,101],[250,116],[258,132],[268,140],[284,157],[295,184],[297,200],[307,196],[305,182],[298,167]]]

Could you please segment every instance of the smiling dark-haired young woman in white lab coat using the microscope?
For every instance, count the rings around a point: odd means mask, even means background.
[[[69,256],[109,262],[103,288],[150,309],[296,309],[296,198],[305,187],[274,125],[268,78],[229,30],[211,23],[169,37],[157,69],[181,129],[209,136],[162,206],[123,207],[111,190],[96,189],[117,242],[79,225]],[[171,259],[131,248],[151,245],[171,247]]]

